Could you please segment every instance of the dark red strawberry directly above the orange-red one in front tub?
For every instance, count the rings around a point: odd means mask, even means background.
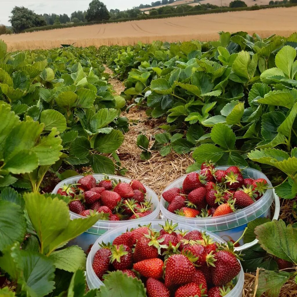
[[[149,235],[144,235],[136,242],[134,249],[134,262],[139,262],[145,259],[157,258],[161,253],[161,248],[166,246],[161,245],[162,239],[157,239],[160,233],[150,231]]]

